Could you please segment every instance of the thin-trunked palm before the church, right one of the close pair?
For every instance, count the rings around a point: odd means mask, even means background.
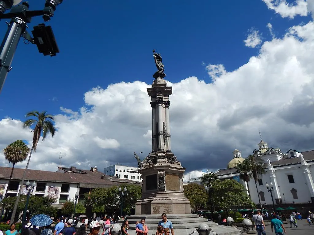
[[[262,158],[258,156],[254,157],[254,155],[249,155],[246,158],[246,160],[248,161],[248,169],[252,172],[252,177],[253,177],[253,180],[255,181],[257,196],[258,196],[259,204],[261,206],[261,210],[263,213],[263,206],[262,206],[261,197],[258,193],[257,181],[258,181],[259,176],[262,176],[265,173],[265,169],[263,167],[264,161]]]

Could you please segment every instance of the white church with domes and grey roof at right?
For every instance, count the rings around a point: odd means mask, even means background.
[[[304,204],[314,203],[314,150],[299,152],[294,149],[283,153],[280,149],[268,147],[261,140],[258,149],[253,150],[254,156],[264,160],[266,173],[260,176],[257,183],[258,194],[264,205],[272,205],[271,194],[268,192],[266,183],[273,184],[273,198],[276,204]],[[250,191],[252,201],[259,204],[255,182],[251,179],[246,182],[240,180],[236,163],[241,163],[244,158],[239,150],[233,151],[233,159],[228,163],[226,169],[216,172],[219,179],[234,179],[242,183]],[[202,177],[189,179],[188,183],[200,184]]]

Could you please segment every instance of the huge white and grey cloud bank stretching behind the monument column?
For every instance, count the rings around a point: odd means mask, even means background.
[[[313,32],[313,22],[294,26],[283,38],[261,44],[257,56],[233,71],[208,65],[212,83],[196,77],[168,83],[172,150],[187,174],[225,168],[235,148],[247,156],[257,147],[259,130],[274,148],[313,149]],[[67,113],[55,116],[58,132],[38,143],[30,168],[57,170],[60,151],[67,154],[65,166],[101,170],[110,161],[136,166],[133,152],[151,150],[149,86],[135,81],[95,87],[84,94],[75,117],[62,108]],[[32,138],[30,129],[10,118],[0,120],[0,133],[0,149]],[[0,159],[8,165],[2,153]]]

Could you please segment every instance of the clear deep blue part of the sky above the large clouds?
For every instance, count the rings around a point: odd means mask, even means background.
[[[309,20],[283,19],[262,1],[252,0],[76,2],[64,1],[48,22],[60,49],[56,57],[43,56],[35,45],[20,41],[1,92],[1,118],[23,119],[34,109],[57,114],[60,106],[78,110],[84,92],[95,86],[151,83],[153,49],[163,56],[167,80],[197,76],[209,82],[202,62],[224,64],[231,71],[257,55],[257,48],[243,43],[248,29],[258,29],[267,40],[269,22],[282,35],[296,22]],[[35,10],[42,9],[44,1],[29,3]],[[34,18],[30,30],[42,21]],[[2,20],[1,36],[6,29]]]

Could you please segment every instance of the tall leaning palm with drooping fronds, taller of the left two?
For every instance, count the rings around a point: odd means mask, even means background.
[[[47,134],[51,134],[51,136],[53,137],[55,135],[56,132],[56,128],[54,127],[54,118],[52,115],[47,114],[47,112],[38,112],[38,111],[33,111],[33,112],[29,112],[26,114],[26,118],[30,118],[27,119],[24,124],[23,124],[23,128],[32,128],[33,129],[33,145],[32,145],[32,149],[30,150],[30,155],[28,157],[28,161],[24,170],[24,174],[22,177],[22,182],[21,182],[21,187],[19,187],[19,193],[16,197],[16,201],[14,204],[14,208],[12,211],[12,216],[11,216],[11,221],[14,221],[14,217],[15,217],[15,212],[17,210],[18,207],[18,203],[19,203],[19,198],[21,195],[21,190],[22,190],[22,185],[24,183],[24,178],[25,178],[25,174],[26,174],[26,170],[28,169],[28,165],[30,164],[30,157],[32,156],[33,151],[36,151],[37,148],[37,144],[38,141],[41,137],[42,134],[42,141],[44,141],[44,139],[47,137]],[[34,118],[34,119],[32,119]]]

